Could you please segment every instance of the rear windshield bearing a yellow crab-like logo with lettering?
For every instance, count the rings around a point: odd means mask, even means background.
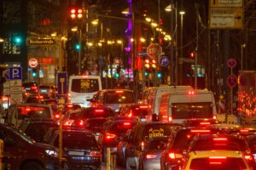
[[[143,131],[143,139],[159,136],[169,136],[172,133],[172,124],[150,124],[145,126]]]

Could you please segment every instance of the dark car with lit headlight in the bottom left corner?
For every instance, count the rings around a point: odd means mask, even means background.
[[[3,169],[59,169],[59,150],[49,144],[36,143],[19,129],[0,123],[0,139],[4,142]]]

